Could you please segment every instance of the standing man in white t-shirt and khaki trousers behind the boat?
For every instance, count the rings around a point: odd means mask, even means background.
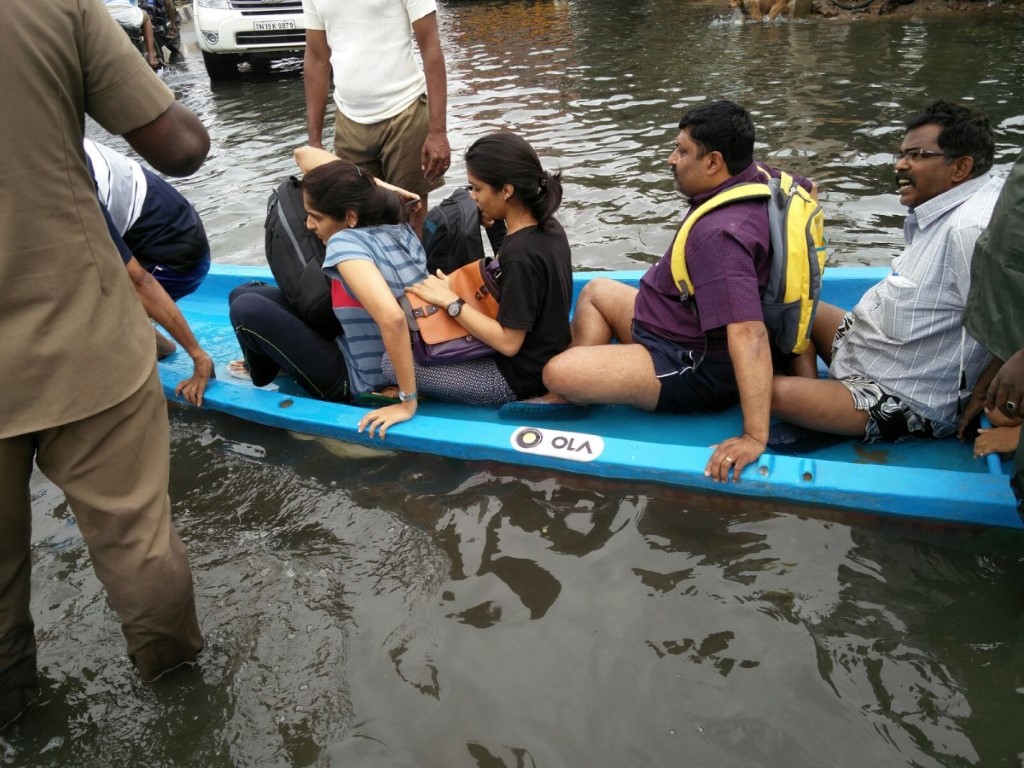
[[[443,183],[452,159],[436,3],[302,0],[302,9],[309,144],[323,148],[333,69],[335,154],[419,195],[423,202],[411,223],[420,233],[427,194]],[[422,70],[414,57],[414,37]]]

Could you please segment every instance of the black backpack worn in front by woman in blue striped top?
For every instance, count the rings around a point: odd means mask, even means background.
[[[266,262],[285,298],[322,336],[340,335],[331,306],[331,279],[322,271],[327,249],[306,229],[302,187],[295,176],[270,193],[264,228]]]

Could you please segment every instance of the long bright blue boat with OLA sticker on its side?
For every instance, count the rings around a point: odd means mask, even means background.
[[[642,272],[578,272],[575,292],[597,275],[636,285]],[[852,306],[886,270],[833,268],[822,298]],[[256,388],[231,378],[225,366],[240,356],[227,318],[227,294],[250,280],[272,283],[265,267],[214,265],[203,286],[179,302],[200,343],[214,358],[204,408],[294,432],[374,449],[435,454],[471,461],[499,461],[615,480],[835,507],[957,524],[1024,528],[1009,486],[1009,463],[975,459],[955,438],[865,445],[831,440],[803,455],[771,447],[739,482],[705,477],[710,446],[738,434],[738,407],[713,415],[666,416],[624,407],[594,407],[575,421],[531,418],[516,423],[493,408],[424,401],[416,418],[391,427],[383,442],[357,432],[364,408],[305,396],[288,378]],[[185,406],[174,386],[191,374],[181,351],[160,364],[168,399]],[[187,406],[185,406],[187,407]]]

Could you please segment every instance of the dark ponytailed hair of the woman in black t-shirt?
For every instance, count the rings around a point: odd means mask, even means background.
[[[515,133],[498,131],[478,138],[466,151],[466,169],[496,189],[511,184],[514,197],[542,228],[562,204],[561,171],[545,171],[534,147]]]

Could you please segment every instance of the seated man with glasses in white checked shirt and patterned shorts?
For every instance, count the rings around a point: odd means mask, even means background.
[[[772,414],[865,442],[955,433],[961,394],[985,364],[964,333],[975,241],[1002,186],[995,139],[979,111],[936,101],[893,156],[906,247],[851,312],[821,303],[812,339],[827,379],[776,377]]]

